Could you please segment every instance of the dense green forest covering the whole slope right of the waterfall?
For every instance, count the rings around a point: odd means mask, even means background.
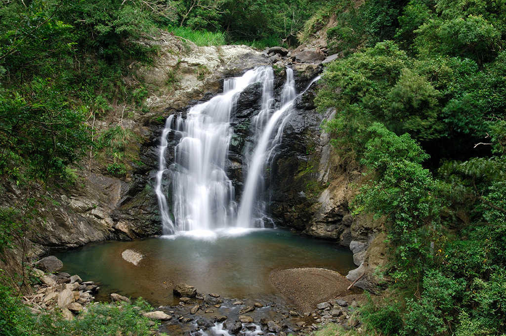
[[[362,312],[381,334],[506,332],[504,6],[372,0],[327,31],[345,57],[317,103],[336,108],[335,148],[369,168],[355,213],[389,234],[392,292]]]

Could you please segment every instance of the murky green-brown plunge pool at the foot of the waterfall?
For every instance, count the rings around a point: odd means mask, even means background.
[[[127,249],[144,256],[137,266],[122,258]],[[190,231],[92,243],[52,254],[63,262],[63,272],[100,286],[97,300],[108,301],[109,294],[117,292],[143,297],[152,305],[177,305],[172,289],[180,282],[204,294],[256,299],[278,297],[269,281],[275,269],[316,267],[346,275],[356,267],[348,248],[281,229]]]

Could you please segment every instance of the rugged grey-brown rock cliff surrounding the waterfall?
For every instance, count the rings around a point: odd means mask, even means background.
[[[185,113],[189,105],[219,93],[223,78],[239,75],[257,65],[274,63],[278,91],[284,82],[283,69],[290,66],[296,75],[298,91],[302,91],[322,70],[324,59],[320,49],[300,48],[297,53],[288,53],[282,48],[272,48],[260,53],[244,46],[199,48],[169,34],[143,43],[156,45],[159,50],[152,66],[132,65],[133,73],[150,85],[148,108],[128,111],[128,118],[123,119],[121,113],[121,119],[118,114],[112,120],[95,123],[101,130],[121,122],[122,127],[138,135],[142,139],[136,144],[139,161],[131,163],[131,173],[114,176],[95,160],[88,160],[83,164],[84,169],[77,172],[73,185],[47,193],[33,219],[30,235],[38,246],[36,253],[47,247],[75,247],[91,241],[160,234],[153,186],[163,120],[172,113]],[[269,170],[268,206],[275,225],[350,247],[355,253],[355,263],[361,265],[350,274],[350,279],[366,270],[359,285],[371,287],[377,280],[374,268],[385,263],[384,233],[381,225],[372,219],[353,218],[350,214],[348,205],[354,192],[351,185],[361,182],[362,172],[356,163],[339,157],[331,148],[328,135],[322,133],[321,123],[332,118],[333,113],[315,111],[316,87],[313,84],[297,99],[285,125],[283,140]],[[261,86],[254,83],[240,95],[237,103],[228,172],[236,190],[241,189],[242,155],[252,142],[249,127],[260,99]],[[168,156],[172,153],[167,151]],[[8,182],[4,182],[4,187],[7,192],[0,196],[3,204],[15,206],[24,197],[22,188]]]

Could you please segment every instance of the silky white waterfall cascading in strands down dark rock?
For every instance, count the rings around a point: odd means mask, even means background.
[[[281,107],[277,111],[273,111],[273,70],[259,67],[241,77],[226,79],[224,93],[193,106],[186,119],[182,115],[175,120],[174,115],[167,118],[160,140],[155,185],[164,235],[180,231],[263,227],[265,201],[258,195],[264,188],[264,171],[281,141],[283,126],[297,97],[293,72],[286,69],[286,73]],[[263,84],[262,106],[252,118],[254,148],[244,155],[243,172],[247,178],[238,206],[232,181],[226,173],[233,132],[231,116],[240,92],[255,82]],[[175,146],[174,162],[167,167],[165,154],[170,134],[180,140]],[[171,206],[165,197],[168,191],[162,190],[164,176],[170,179],[172,186]]]

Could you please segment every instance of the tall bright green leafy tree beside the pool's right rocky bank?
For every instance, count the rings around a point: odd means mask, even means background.
[[[431,263],[431,239],[438,239],[435,218],[438,200],[431,194],[434,181],[421,162],[428,155],[409,137],[397,136],[383,124],[373,123],[364,159],[372,177],[355,198],[355,213],[387,216],[387,232],[395,260],[393,276],[416,281]]]

